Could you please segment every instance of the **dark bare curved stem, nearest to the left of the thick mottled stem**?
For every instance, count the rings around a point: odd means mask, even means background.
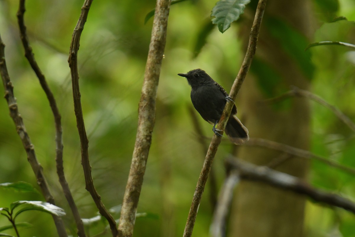
[[[95,189],[94,181],[91,176],[91,165],[89,161],[89,141],[86,135],[83,111],[81,108],[81,100],[80,100],[80,88],[79,88],[79,73],[78,73],[78,59],[77,53],[79,50],[80,36],[84,29],[84,25],[89,13],[90,6],[93,0],[85,0],[84,4],[81,8],[81,14],[79,20],[75,26],[73,31],[71,43],[70,43],[70,52],[69,52],[69,67],[70,74],[72,79],[72,88],[73,88],[73,101],[74,101],[74,111],[76,116],[76,124],[80,136],[80,146],[81,146],[81,164],[84,170],[85,177],[85,188],[91,194],[92,199],[94,200],[97,208],[99,209],[100,214],[105,217],[105,219],[109,222],[109,226],[111,228],[112,236],[117,236],[117,227],[116,221],[113,219],[111,214],[105,208],[104,204],[101,201],[101,197]]]

